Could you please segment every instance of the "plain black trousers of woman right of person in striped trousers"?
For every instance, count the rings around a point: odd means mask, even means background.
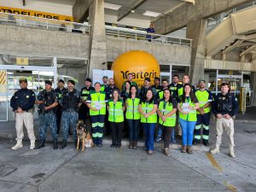
[[[113,123],[109,122],[111,128],[111,137],[113,144],[121,144],[123,129],[124,129],[124,122],[120,123]]]

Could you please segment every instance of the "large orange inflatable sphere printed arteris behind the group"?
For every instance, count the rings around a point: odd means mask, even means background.
[[[151,84],[155,77],[160,77],[160,65],[153,55],[142,51],[132,50],[119,55],[111,70],[113,70],[114,82],[119,89],[127,80],[128,73],[132,73],[133,80],[140,87],[143,85],[144,79],[151,79]]]

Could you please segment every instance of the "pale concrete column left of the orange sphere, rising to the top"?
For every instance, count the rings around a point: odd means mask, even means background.
[[[92,78],[92,69],[107,69],[104,0],[94,0],[89,9],[90,61],[87,77]]]

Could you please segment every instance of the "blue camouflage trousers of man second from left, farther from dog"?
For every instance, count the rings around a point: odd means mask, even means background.
[[[57,125],[56,125],[56,115],[55,113],[45,113],[39,114],[40,126],[39,126],[39,137],[40,140],[45,140],[47,128],[49,127],[51,131],[52,138],[55,140],[58,137]]]

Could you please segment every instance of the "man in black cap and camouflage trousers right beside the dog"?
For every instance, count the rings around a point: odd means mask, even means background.
[[[79,91],[74,89],[75,82],[73,80],[67,81],[67,90],[63,91],[61,106],[61,123],[63,132],[63,141],[61,149],[67,147],[67,138],[69,127],[73,131],[73,140],[75,147],[77,145],[78,136],[76,131],[76,125],[79,121],[79,105],[80,105],[80,94]]]

